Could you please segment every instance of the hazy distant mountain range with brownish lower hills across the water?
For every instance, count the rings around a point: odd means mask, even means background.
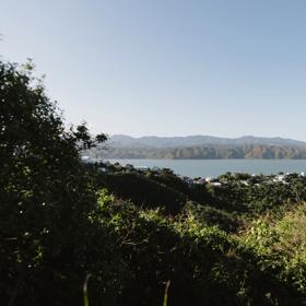
[[[86,152],[102,158],[306,160],[306,142],[283,138],[211,136],[140,137],[116,134]]]

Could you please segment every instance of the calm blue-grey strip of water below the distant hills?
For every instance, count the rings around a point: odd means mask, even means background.
[[[306,173],[306,160],[109,160],[122,165],[170,168],[189,177],[216,177],[226,172],[249,174]]]

